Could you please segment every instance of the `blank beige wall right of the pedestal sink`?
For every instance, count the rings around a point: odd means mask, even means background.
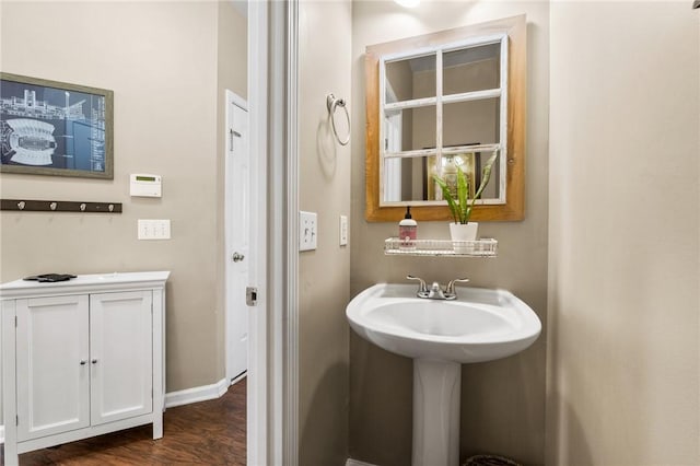
[[[700,464],[699,26],[552,3],[550,465]]]

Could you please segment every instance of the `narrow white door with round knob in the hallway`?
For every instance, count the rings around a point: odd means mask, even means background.
[[[248,369],[248,307],[250,248],[250,161],[246,103],[226,91],[226,377]]]

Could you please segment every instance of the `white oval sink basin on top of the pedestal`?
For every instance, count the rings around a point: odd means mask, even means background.
[[[348,321],[387,351],[459,363],[515,354],[541,330],[533,310],[505,290],[457,288],[455,301],[421,299],[416,291],[416,284],[375,284],[348,304]]]

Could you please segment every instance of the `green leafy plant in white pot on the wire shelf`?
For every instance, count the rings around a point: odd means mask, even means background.
[[[450,211],[452,212],[452,217],[454,218],[454,223],[450,223],[450,234],[452,236],[452,241],[455,242],[466,242],[466,241],[475,241],[477,238],[477,230],[479,224],[476,222],[469,222],[469,218],[471,217],[471,210],[474,206],[483,193],[483,188],[488,185],[489,179],[491,178],[491,168],[493,166],[493,162],[495,162],[495,158],[499,152],[493,152],[493,155],[489,158],[486,162],[486,165],[481,170],[481,184],[479,188],[474,194],[474,197],[469,199],[469,179],[467,179],[467,175],[462,170],[457,170],[457,197],[453,196],[450,186],[447,183],[438,175],[433,175],[433,179],[440,186],[442,190],[442,197],[447,201],[447,207],[450,207]],[[464,243],[459,243],[455,245],[456,252],[467,252],[468,246]]]

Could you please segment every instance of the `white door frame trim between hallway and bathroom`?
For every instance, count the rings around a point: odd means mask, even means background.
[[[260,228],[250,238],[258,306],[248,338],[249,465],[299,464],[298,11],[299,0],[248,2],[249,150],[258,202],[250,217]]]

